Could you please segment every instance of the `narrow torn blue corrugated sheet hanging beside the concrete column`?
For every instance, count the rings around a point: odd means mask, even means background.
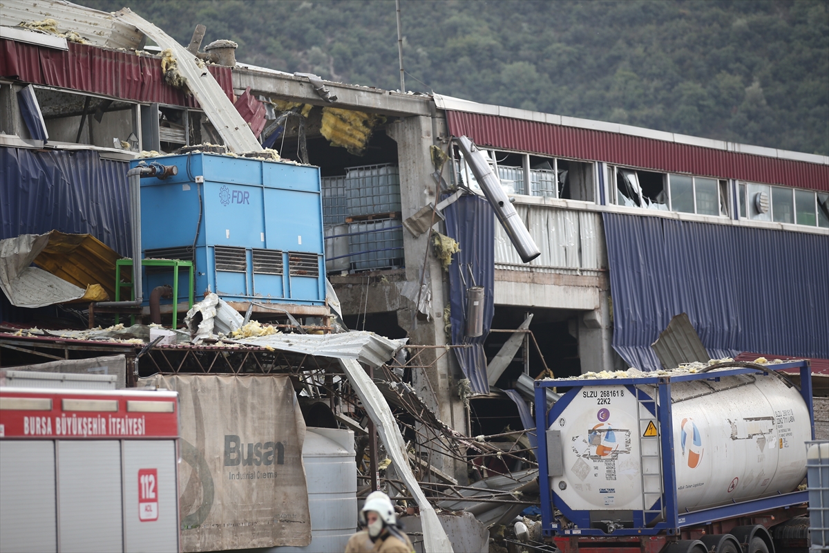
[[[449,265],[452,343],[473,344],[473,347],[456,347],[454,352],[473,392],[488,394],[487,357],[483,352],[483,342],[492,328],[492,316],[495,314],[495,213],[483,198],[461,196],[444,210],[444,216],[446,234],[456,240],[460,248]],[[468,338],[464,336],[466,293],[473,282],[484,288],[483,334]]]

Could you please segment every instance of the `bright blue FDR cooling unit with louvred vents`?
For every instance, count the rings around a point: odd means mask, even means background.
[[[318,167],[211,153],[143,161],[178,174],[141,179],[142,256],[193,260],[196,301],[211,291],[228,302],[325,303]],[[172,285],[172,269],[144,274],[144,298]],[[178,302],[187,279],[180,271]]]

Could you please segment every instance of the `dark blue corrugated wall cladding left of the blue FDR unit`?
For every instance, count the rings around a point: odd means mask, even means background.
[[[0,239],[90,234],[130,257],[128,168],[97,152],[0,148]]]

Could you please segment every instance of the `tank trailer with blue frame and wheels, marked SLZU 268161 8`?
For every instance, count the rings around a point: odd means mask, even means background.
[[[795,386],[781,369],[799,370]],[[808,361],[536,381],[541,521],[564,553],[807,551]],[[548,409],[547,388],[561,396]]]

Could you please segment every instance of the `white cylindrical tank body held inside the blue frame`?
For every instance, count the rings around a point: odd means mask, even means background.
[[[806,475],[807,405],[777,376],[672,383],[671,400],[680,512],[792,492]],[[581,388],[550,425],[564,461],[553,491],[574,510],[651,509],[662,480],[660,440],[645,435],[651,421],[626,386]]]

